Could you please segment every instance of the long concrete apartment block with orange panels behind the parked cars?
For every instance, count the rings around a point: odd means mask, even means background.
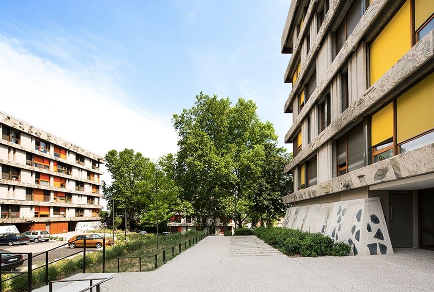
[[[103,158],[0,112],[0,226],[50,233],[100,220]]]

